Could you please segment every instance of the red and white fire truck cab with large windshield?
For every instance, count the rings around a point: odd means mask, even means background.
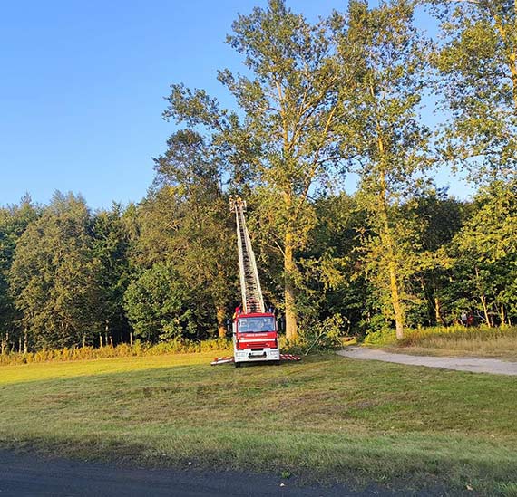
[[[278,328],[272,312],[236,313],[233,320],[235,367],[243,362],[280,361]]]

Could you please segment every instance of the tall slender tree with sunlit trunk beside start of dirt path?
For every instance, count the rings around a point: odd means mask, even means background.
[[[390,302],[398,339],[405,326],[405,280],[415,262],[415,226],[400,205],[418,186],[429,138],[418,116],[427,45],[414,27],[414,8],[411,0],[374,9],[353,0],[345,16],[333,19],[338,53],[344,65],[355,53],[360,73],[356,90],[346,89],[352,114],[340,130],[360,178],[357,200],[374,234],[366,239],[368,274]]]

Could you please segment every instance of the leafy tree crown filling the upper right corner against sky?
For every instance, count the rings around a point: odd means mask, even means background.
[[[434,62],[450,115],[444,158],[477,182],[517,174],[517,2],[430,0],[441,21]]]

